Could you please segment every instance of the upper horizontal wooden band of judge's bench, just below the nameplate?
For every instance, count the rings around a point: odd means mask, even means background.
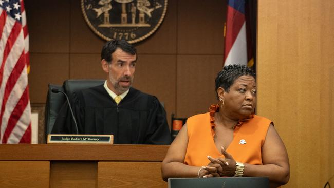
[[[162,161],[169,145],[2,144],[0,160]]]

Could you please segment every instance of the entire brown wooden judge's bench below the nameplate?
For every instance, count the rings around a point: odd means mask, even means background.
[[[0,144],[0,187],[167,187],[169,145]]]

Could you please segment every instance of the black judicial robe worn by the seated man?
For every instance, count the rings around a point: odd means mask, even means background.
[[[114,144],[170,144],[166,112],[155,96],[130,88],[117,105],[103,85],[77,91],[70,97],[79,134],[114,135]],[[76,134],[67,103],[52,134]]]

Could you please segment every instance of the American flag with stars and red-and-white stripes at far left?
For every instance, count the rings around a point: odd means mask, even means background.
[[[29,35],[23,0],[0,0],[0,143],[31,143]]]

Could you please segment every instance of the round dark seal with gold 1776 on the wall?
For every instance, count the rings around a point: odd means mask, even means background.
[[[81,0],[81,9],[90,29],[102,39],[137,43],[158,29],[167,1]]]

